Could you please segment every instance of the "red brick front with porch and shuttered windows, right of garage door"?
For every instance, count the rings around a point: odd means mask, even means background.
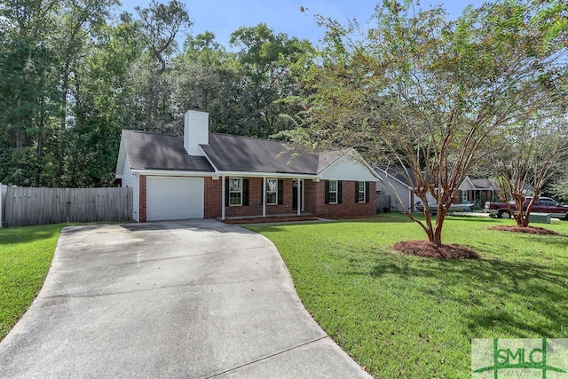
[[[205,214],[229,222],[260,217],[299,220],[373,216],[375,196],[372,193],[375,193],[374,182],[226,176],[206,180]]]

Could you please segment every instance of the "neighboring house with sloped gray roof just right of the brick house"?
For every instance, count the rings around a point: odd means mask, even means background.
[[[404,169],[399,167],[386,168],[377,166],[375,167],[375,171],[379,178],[381,178],[381,180],[376,182],[377,196],[390,195],[389,210],[395,212],[402,212],[404,210],[401,208],[400,203],[394,198],[394,194],[396,193],[405,209],[414,212],[416,210],[416,201],[414,200],[414,193],[412,192],[414,187],[414,175],[412,170],[408,170],[406,173]]]

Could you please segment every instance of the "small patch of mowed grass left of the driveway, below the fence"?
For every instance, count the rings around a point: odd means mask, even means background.
[[[42,288],[62,226],[0,229],[0,340]]]

